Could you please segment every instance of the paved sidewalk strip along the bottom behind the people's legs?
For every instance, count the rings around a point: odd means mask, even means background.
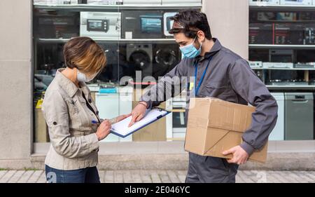
[[[100,170],[102,183],[183,183],[185,170]],[[0,170],[0,183],[45,183],[43,170]],[[239,170],[237,183],[315,183],[315,171]]]

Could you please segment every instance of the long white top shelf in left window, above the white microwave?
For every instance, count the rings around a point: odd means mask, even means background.
[[[38,9],[78,9],[78,10],[160,10],[160,9],[181,9],[181,8],[202,8],[201,4],[167,4],[167,5],[87,5],[87,4],[73,4],[73,5],[57,5],[57,4],[49,4],[49,5],[41,5],[41,4],[34,4],[34,8]]]

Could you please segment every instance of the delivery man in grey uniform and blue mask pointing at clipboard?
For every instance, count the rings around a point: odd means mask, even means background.
[[[146,109],[179,95],[172,90],[174,76],[195,77],[195,83],[186,86],[186,92],[193,90],[195,97],[216,97],[253,105],[256,110],[250,128],[242,137],[243,142],[223,151],[224,155],[232,154],[232,159],[189,153],[186,182],[235,182],[238,166],[246,163],[255,149],[261,149],[267,143],[276,124],[276,100],[246,60],[221,46],[220,41],[211,36],[207,15],[198,11],[182,11],[172,20],[174,25],[169,33],[174,34],[185,57],[141,97],[132,111],[130,125],[140,121]]]

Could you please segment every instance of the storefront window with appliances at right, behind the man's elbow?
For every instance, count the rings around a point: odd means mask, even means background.
[[[250,2],[250,64],[279,105],[269,140],[314,140],[314,6]]]

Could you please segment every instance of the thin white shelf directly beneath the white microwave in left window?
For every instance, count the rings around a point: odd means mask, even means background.
[[[38,43],[66,43],[69,39],[36,39]],[[94,39],[97,42],[174,42],[175,39]]]

